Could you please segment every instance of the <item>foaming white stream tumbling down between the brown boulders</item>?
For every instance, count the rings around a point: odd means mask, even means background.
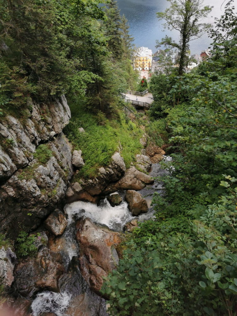
[[[171,157],[164,156],[164,161],[171,160]],[[161,169],[159,163],[155,163],[152,164],[149,175],[165,177],[168,173],[168,170]],[[149,207],[147,213],[138,217],[131,215],[124,199],[121,204],[114,207],[110,205],[106,197],[98,206],[82,201],[66,204],[64,212],[67,214],[68,225],[64,234],[59,237],[60,246],[58,246],[66,269],[66,273],[59,278],[60,293],[52,291],[38,293],[31,305],[32,315],[54,313],[57,316],[107,316],[106,301],[90,290],[78,267],[77,256],[80,251],[75,238],[75,223],[79,218],[90,218],[99,227],[121,232],[125,224],[135,218],[138,222],[152,219],[155,213],[151,206],[152,195],[154,192],[162,194],[162,191],[162,181],[155,181],[153,185],[147,185],[138,191],[146,199]]]

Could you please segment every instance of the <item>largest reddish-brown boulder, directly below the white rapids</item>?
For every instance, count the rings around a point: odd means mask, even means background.
[[[94,292],[100,293],[103,276],[107,276],[119,262],[115,250],[119,233],[98,228],[88,219],[77,222],[76,227],[82,276]]]

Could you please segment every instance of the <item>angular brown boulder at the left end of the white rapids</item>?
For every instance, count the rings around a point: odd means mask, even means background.
[[[45,220],[45,227],[55,236],[62,235],[67,224],[65,215],[58,209],[54,210]]]

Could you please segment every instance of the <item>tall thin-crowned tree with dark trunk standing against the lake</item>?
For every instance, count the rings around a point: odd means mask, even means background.
[[[203,35],[210,27],[209,24],[203,23],[203,18],[207,17],[211,11],[211,7],[204,6],[203,0],[167,0],[171,3],[170,7],[164,12],[158,12],[159,20],[165,20],[164,27],[168,30],[177,30],[180,34],[179,43],[166,36],[160,42],[160,45],[171,46],[179,50],[179,75],[184,73],[188,64],[187,51],[189,50],[189,42]]]

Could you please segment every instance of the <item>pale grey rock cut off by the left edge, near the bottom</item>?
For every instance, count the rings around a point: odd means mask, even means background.
[[[13,270],[16,263],[16,255],[10,249],[2,247],[0,249],[0,284],[10,287],[13,280]]]

